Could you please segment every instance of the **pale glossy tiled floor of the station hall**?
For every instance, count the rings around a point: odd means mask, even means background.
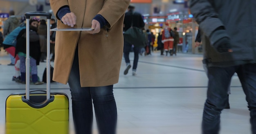
[[[154,52],[151,56],[139,57],[137,76],[132,76],[131,70],[124,76],[123,60],[119,83],[114,85],[118,134],[200,134],[207,90],[201,60],[202,55],[166,57]],[[25,85],[11,81],[14,68],[7,66],[9,56],[3,50],[0,63],[0,134],[4,134],[5,99],[11,93],[25,92]],[[45,63],[38,66],[40,78],[45,66]],[[31,85],[31,89],[45,86]],[[52,83],[51,88],[70,97],[68,85]],[[231,109],[222,111],[221,134],[250,134],[247,102],[237,76],[232,78],[229,98]],[[97,134],[95,122],[94,119],[94,134]],[[74,134],[72,110],[70,134]]]

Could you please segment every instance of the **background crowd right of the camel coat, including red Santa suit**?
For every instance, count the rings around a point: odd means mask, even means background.
[[[156,40],[156,35],[153,32],[150,32],[149,29],[145,30],[145,23],[143,21],[143,17],[140,13],[135,12],[135,6],[129,5],[128,11],[125,13],[124,17],[124,28],[123,31],[126,32],[130,27],[137,27],[144,30],[145,34],[145,42],[141,45],[135,45],[128,43],[126,39],[124,39],[124,58],[126,62],[126,69],[124,71],[124,75],[128,74],[129,69],[132,67],[132,76],[136,76],[137,73],[137,65],[139,61],[139,54],[142,55],[151,55],[151,51],[160,50],[160,55],[164,55],[164,51],[166,52],[166,56],[170,54],[170,56],[177,55],[177,44],[180,41],[179,33],[177,32],[177,28],[173,28],[173,30],[164,25],[163,29],[158,33],[157,36],[157,48],[154,48],[154,43]],[[130,64],[129,54],[130,52],[134,52],[134,60],[133,65]]]

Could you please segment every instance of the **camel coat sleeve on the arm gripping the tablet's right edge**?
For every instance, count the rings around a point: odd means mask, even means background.
[[[103,7],[98,14],[102,15],[108,21],[109,26],[107,28],[112,28],[124,15],[129,4],[130,0],[104,0]]]

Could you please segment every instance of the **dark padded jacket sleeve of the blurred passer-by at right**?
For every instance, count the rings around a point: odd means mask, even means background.
[[[190,10],[201,30],[209,37],[211,45],[221,38],[229,37],[224,24],[219,19],[218,13],[216,13],[209,0],[190,0]]]

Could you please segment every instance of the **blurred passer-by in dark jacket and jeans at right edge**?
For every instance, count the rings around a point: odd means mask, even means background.
[[[232,5],[232,6],[230,6]],[[190,0],[200,25],[208,91],[202,119],[203,134],[218,134],[220,113],[226,107],[231,77],[237,73],[256,134],[256,1]],[[244,9],[241,12],[241,9]]]

